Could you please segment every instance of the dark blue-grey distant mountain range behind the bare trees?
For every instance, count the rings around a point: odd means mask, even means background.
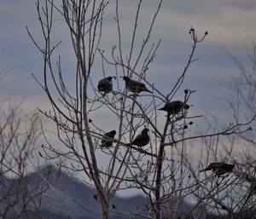
[[[0,180],[0,216],[4,216],[4,219],[38,219],[39,216],[46,219],[101,218],[96,188],[78,182],[53,165],[47,165],[22,179],[11,180],[0,176]],[[115,211],[140,212],[146,209],[146,205],[147,199],[142,195],[131,198],[115,196],[110,218],[130,218],[131,215],[125,216]],[[191,207],[184,202],[178,207],[178,215],[189,211]]]

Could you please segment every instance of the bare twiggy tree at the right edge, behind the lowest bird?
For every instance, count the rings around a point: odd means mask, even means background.
[[[208,214],[216,218],[252,218],[255,215],[255,45],[248,51],[247,64],[230,55],[240,71],[238,77],[229,84],[222,84],[230,92],[223,97],[228,104],[227,110],[233,118],[232,124],[237,126],[234,134],[222,137],[217,135],[205,139],[201,147],[198,165],[187,162],[191,170],[191,179],[197,183],[198,189],[193,193],[197,204],[207,206]],[[216,119],[216,124],[224,124]],[[210,124],[210,123],[209,123]],[[208,129],[207,129],[208,130]],[[212,172],[199,174],[212,162],[235,164],[233,173],[217,177]],[[201,177],[204,177],[201,180]]]

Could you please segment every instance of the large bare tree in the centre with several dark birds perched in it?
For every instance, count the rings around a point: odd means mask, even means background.
[[[189,116],[190,96],[195,90],[185,89],[182,91],[183,100],[175,99],[175,95],[181,92],[189,66],[197,60],[195,49],[205,39],[207,32],[198,36],[195,29],[190,28],[192,48],[189,59],[177,83],[167,94],[148,81],[148,69],[160,45],[160,41],[152,43],[150,36],[161,3],[157,4],[148,22],[148,31],[144,33],[142,42],[138,43],[137,26],[143,8],[143,1],[138,1],[128,49],[122,41],[124,33],[119,19],[118,0],[115,2],[114,17],[118,42],[111,49],[101,48],[103,15],[108,9],[108,3],[103,0],[62,0],[61,5],[53,0],[45,0],[43,7],[38,1],[38,20],[44,45],[40,46],[27,29],[44,58],[44,79],[43,82],[37,81],[49,98],[51,110],[41,112],[54,122],[56,135],[64,146],[60,150],[47,141],[45,135],[47,144],[44,145],[42,156],[57,159],[67,170],[84,173],[86,182],[92,182],[96,187],[104,219],[109,218],[110,209],[119,212],[118,206],[111,206],[113,195],[121,189],[131,188],[142,191],[148,199],[145,209],[129,212],[131,217],[160,219],[177,216],[177,205],[189,195],[197,193],[199,185],[212,181],[212,178],[207,178],[207,181],[197,179],[195,171],[195,181],[191,180],[188,145],[193,141],[218,139],[219,136],[247,130],[243,126],[248,122],[237,121],[217,131],[195,135],[189,129],[193,120],[201,117]],[[74,90],[68,89],[65,83],[66,72],[61,67],[61,55],[56,65],[53,64],[56,48],[61,46],[61,41],[52,43],[55,11],[65,20],[73,45],[76,60],[73,68]],[[107,55],[106,51],[109,50]],[[93,78],[97,76],[93,71],[96,65],[102,66],[103,79],[98,88],[93,83]],[[107,68],[112,69],[115,75],[109,76]],[[113,83],[114,78],[116,83]],[[161,113],[158,109],[165,112]],[[93,119],[99,111],[109,112],[109,117],[115,119],[109,126],[116,124],[116,128],[102,130],[101,123]],[[114,137],[116,133],[117,137]],[[103,166],[99,164],[102,158],[105,160]],[[228,183],[232,184],[233,180]],[[219,190],[219,186],[212,183],[209,188],[212,193],[201,192],[195,207],[226,188],[223,186]]]

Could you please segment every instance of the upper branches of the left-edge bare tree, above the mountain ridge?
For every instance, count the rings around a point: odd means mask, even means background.
[[[1,110],[1,175],[26,176],[41,135],[38,112],[24,112],[20,106],[9,104]]]

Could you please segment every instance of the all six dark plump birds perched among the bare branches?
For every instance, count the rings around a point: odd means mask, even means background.
[[[102,93],[102,95],[106,95],[110,92],[113,92],[113,83],[112,83],[112,78],[113,77],[108,77],[108,78],[102,78],[99,83],[98,83],[98,90]],[[125,89],[133,93],[134,95],[138,95],[141,92],[152,92],[146,88],[146,85],[139,82],[132,80],[131,78],[128,78],[126,76],[121,77],[125,81]],[[163,110],[167,112],[167,116],[170,115],[177,115],[179,112],[182,112],[183,110],[188,110],[189,105],[184,103],[183,101],[171,101],[167,102],[166,105],[159,110]],[[102,147],[111,147],[113,145],[113,138],[114,135],[116,135],[115,130],[111,130],[102,137]],[[141,134],[137,135],[131,143],[127,145],[135,145],[137,147],[144,147],[148,145],[150,139],[148,135],[148,129],[144,128]],[[222,176],[226,173],[230,173],[233,171],[235,167],[235,164],[225,164],[225,163],[211,163],[207,166],[206,169],[200,170],[202,171],[208,171],[212,170],[212,172],[216,176]]]

